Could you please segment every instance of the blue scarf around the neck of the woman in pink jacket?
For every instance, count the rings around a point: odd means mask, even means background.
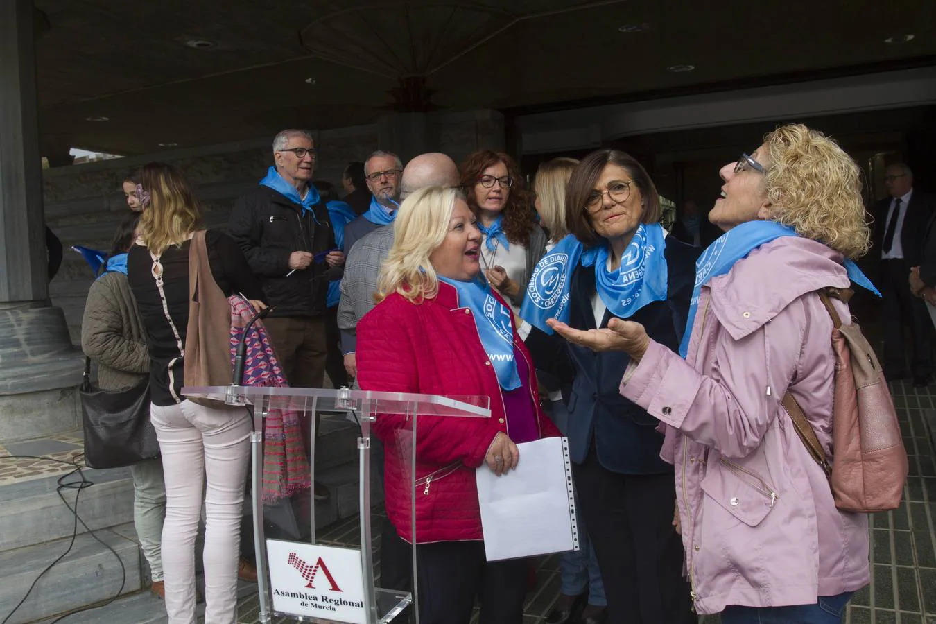
[[[695,261],[695,289],[693,298],[689,302],[689,319],[686,322],[686,331],[682,335],[680,356],[685,358],[689,352],[689,341],[693,336],[695,312],[698,311],[699,293],[702,291],[702,286],[709,283],[713,277],[730,271],[736,262],[746,258],[761,245],[783,236],[797,236],[797,231],[775,221],[748,221],[725,232],[702,252],[699,259]],[[881,297],[878,289],[870,283],[870,280],[853,261],[846,258],[844,266],[848,272],[848,279]]]

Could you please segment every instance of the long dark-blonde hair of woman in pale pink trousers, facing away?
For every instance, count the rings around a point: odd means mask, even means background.
[[[155,255],[170,245],[181,246],[201,222],[198,202],[183,172],[166,163],[150,163],[139,169],[138,179],[150,196],[139,218],[140,239]]]

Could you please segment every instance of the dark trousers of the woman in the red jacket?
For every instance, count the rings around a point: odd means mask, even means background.
[[[417,545],[420,624],[522,624],[529,559],[488,562],[483,542]]]

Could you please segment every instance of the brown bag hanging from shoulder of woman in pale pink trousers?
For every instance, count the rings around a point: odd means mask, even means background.
[[[188,250],[188,329],[185,335],[184,384],[189,387],[230,385],[231,308],[214,282],[208,261],[205,230],[192,237]],[[189,400],[207,407],[224,407],[224,401]]]

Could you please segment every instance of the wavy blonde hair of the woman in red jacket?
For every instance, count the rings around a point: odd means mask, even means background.
[[[435,297],[439,280],[429,256],[446,239],[460,198],[464,196],[457,189],[429,186],[403,200],[393,222],[393,246],[377,279],[377,301],[391,293],[413,303]]]

